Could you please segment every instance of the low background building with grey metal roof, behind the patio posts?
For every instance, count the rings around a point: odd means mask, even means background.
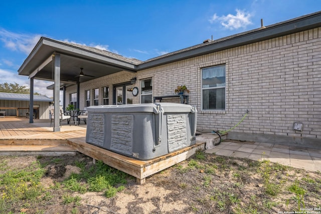
[[[35,119],[49,119],[49,105],[52,99],[43,95],[34,95]],[[30,110],[30,95],[0,92],[0,111],[6,116],[27,117]]]

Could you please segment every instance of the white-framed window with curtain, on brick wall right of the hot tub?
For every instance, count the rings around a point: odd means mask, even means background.
[[[225,110],[225,65],[202,69],[202,109]]]

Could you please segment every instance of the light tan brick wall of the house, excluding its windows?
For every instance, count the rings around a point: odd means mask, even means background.
[[[198,129],[227,130],[237,124],[249,110],[237,132],[320,138],[321,136],[321,29],[257,42],[233,49],[182,60],[139,71],[119,72],[80,85],[80,107],[85,90],[152,78],[153,96],[170,95],[178,85],[191,91],[189,103],[196,105]],[[201,110],[201,69],[226,65],[226,110]],[[69,87],[68,94],[76,92]],[[178,102],[179,99],[164,101]],[[91,100],[92,102],[92,100]],[[134,97],[140,103],[140,93]],[[68,101],[67,101],[68,103]],[[102,97],[99,99],[102,103]],[[292,130],[293,122],[304,124],[303,131]]]

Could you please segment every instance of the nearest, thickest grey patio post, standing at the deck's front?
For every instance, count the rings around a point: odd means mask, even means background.
[[[54,108],[55,108],[55,126],[54,132],[60,131],[60,54],[53,54],[53,72],[54,72]]]

